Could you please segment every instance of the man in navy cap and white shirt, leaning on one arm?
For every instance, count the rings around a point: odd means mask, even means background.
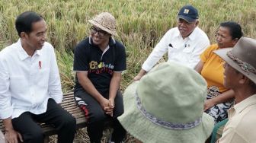
[[[168,61],[194,68],[200,61],[200,54],[210,46],[210,41],[197,25],[198,12],[192,5],[185,5],[178,13],[178,26],[165,33],[143,63],[134,81],[142,78],[162,56],[168,52]]]

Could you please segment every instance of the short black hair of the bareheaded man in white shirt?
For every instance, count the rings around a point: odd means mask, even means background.
[[[21,32],[30,33],[32,31],[32,24],[41,20],[43,20],[43,17],[34,11],[25,11],[18,15],[15,21],[18,36],[21,37]]]

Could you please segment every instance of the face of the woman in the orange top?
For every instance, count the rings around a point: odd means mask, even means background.
[[[219,27],[216,32],[216,42],[219,48],[227,48],[235,46],[237,40],[232,40],[229,27]]]

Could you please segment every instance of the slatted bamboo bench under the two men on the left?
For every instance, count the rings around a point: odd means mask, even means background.
[[[75,117],[76,129],[84,128],[87,125],[86,124],[87,120],[85,119],[85,113],[83,113],[82,110],[80,110],[78,106],[76,106],[73,93],[63,94],[63,100],[62,100],[61,106],[65,110],[69,111],[69,113],[71,113],[72,116]],[[46,135],[46,138],[44,139],[45,143],[49,142],[50,135],[57,134],[56,129],[54,129],[52,126],[47,126],[44,123],[41,123],[40,126],[43,128],[43,132]],[[0,129],[2,130],[2,132],[5,132],[2,119],[0,119]]]

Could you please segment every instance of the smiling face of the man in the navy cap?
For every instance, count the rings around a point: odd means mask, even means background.
[[[189,37],[190,33],[194,31],[197,25],[198,25],[198,21],[189,23],[182,18],[178,18],[178,30],[180,31],[181,36],[183,38]]]

